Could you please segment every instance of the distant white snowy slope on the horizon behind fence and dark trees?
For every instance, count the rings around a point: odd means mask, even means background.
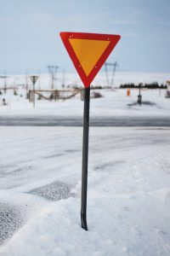
[[[3,75],[3,74],[2,74]],[[8,75],[6,79],[6,83],[8,86],[14,86],[17,84],[28,84],[31,88],[31,79],[29,79],[30,74],[25,75]],[[32,75],[32,74],[31,74]],[[37,73],[39,79],[37,79],[36,88],[49,88],[51,86],[51,78],[47,73]],[[112,73],[108,71],[108,79],[111,83]],[[61,87],[61,84],[68,85],[78,85],[82,86],[82,81],[79,78],[77,73],[57,73],[56,79],[54,80],[54,88]],[[153,83],[157,82],[159,84],[165,84],[167,80],[170,79],[169,73],[150,73],[150,72],[116,72],[114,77],[114,87],[119,87],[120,84],[127,83]],[[4,80],[0,79],[0,87],[3,87]],[[92,85],[107,85],[107,79],[104,71],[99,71],[97,76],[95,77]]]

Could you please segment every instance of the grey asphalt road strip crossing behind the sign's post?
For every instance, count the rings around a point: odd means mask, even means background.
[[[91,126],[120,126],[120,127],[168,127],[169,117],[91,117]],[[0,126],[82,126],[82,117],[57,116],[3,116]]]

